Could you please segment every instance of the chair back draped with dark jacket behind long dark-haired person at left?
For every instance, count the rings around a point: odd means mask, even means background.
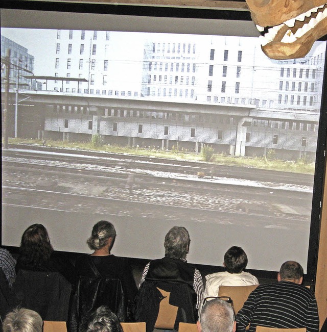
[[[15,306],[49,321],[67,321],[71,292],[71,284],[59,272],[19,270],[12,287]]]

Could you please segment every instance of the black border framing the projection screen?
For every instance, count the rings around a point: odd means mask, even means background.
[[[73,12],[73,13],[94,13],[94,14],[111,14],[111,15],[132,15],[146,17],[170,17],[170,18],[197,18],[197,19],[222,19],[222,20],[243,20],[250,21],[250,13],[238,10],[221,10],[221,9],[199,9],[186,7],[160,7],[151,5],[116,5],[116,4],[99,4],[99,3],[71,3],[71,2],[42,2],[42,1],[11,1],[2,0],[1,9],[21,9],[32,11],[56,11],[56,12]],[[327,40],[327,35],[319,40]],[[327,137],[327,57],[325,58],[324,78],[321,96],[321,109],[319,120],[319,131],[316,151],[316,167],[314,174],[314,189],[312,200],[312,213],[310,225],[310,239],[307,261],[307,274],[305,275],[306,284],[314,287],[318,248],[319,233],[321,223],[321,208],[323,199],[323,184],[325,181],[326,168],[326,137]],[[0,243],[2,243],[2,221],[0,229]],[[7,247],[13,253],[18,253],[17,247]],[[76,258],[78,253],[69,253],[72,259]],[[144,266],[147,260],[130,259],[133,265]],[[223,267],[208,266],[195,264],[202,274],[217,272],[223,270]],[[247,271],[255,274],[260,278],[275,279],[276,271],[250,270]]]

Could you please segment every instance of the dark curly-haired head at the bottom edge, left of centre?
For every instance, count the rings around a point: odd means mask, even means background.
[[[117,316],[107,307],[101,305],[90,316],[85,332],[123,332]]]

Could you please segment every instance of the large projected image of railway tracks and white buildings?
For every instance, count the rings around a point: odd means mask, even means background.
[[[276,61],[253,37],[2,28],[2,244],[39,222],[88,252],[106,219],[116,255],[154,259],[181,225],[191,263],[239,245],[250,269],[306,269],[325,49]]]

